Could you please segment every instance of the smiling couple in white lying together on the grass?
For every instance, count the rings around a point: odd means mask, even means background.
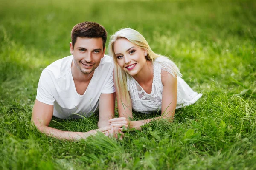
[[[104,55],[107,32],[98,23],[77,24],[71,40],[72,55],[45,68],[38,83],[31,121],[49,136],[79,140],[101,132],[117,138],[123,127],[139,130],[153,120],[131,121],[132,110],[148,114],[161,111],[154,120],[172,121],[176,108],[191,105],[202,96],[180,78],[171,60],[154,53],[133,29],[111,36],[110,56]],[[114,118],[116,96],[118,118]],[[99,129],[70,132],[48,127],[52,116],[81,118],[97,110]]]

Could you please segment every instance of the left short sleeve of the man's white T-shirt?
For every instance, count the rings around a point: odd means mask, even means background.
[[[51,75],[47,71],[43,70],[38,82],[36,99],[39,102],[53,105],[55,101],[53,96],[54,89],[55,87]]]

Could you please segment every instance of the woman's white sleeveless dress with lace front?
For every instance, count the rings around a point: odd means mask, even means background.
[[[127,87],[131,97],[132,109],[141,113],[161,111],[163,84],[161,81],[161,64],[154,62],[154,77],[150,94],[144,91],[140,84],[131,76],[127,77]],[[194,104],[202,94],[193,91],[181,78],[177,77],[177,108]]]

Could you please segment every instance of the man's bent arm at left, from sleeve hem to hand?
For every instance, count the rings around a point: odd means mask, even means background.
[[[43,102],[35,100],[35,105],[32,111],[31,122],[35,124],[39,131],[58,139],[67,140],[79,140],[85,139],[88,136],[96,134],[99,132],[107,132],[111,130],[111,127],[103,127],[97,130],[90,130],[89,132],[69,132],[62,131],[52,127],[48,127],[53,115],[53,105],[48,105]]]

